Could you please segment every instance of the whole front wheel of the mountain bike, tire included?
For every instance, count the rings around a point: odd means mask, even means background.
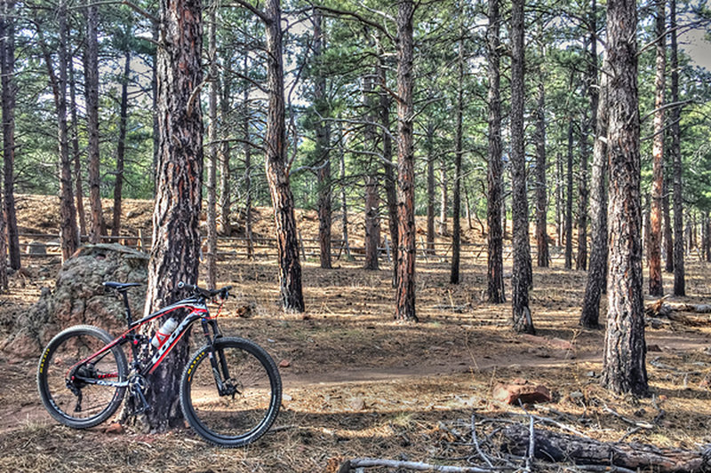
[[[274,360],[257,343],[243,338],[220,338],[212,348],[205,345],[190,360],[180,382],[183,414],[214,445],[251,444],[267,433],[281,403],[282,380]]]

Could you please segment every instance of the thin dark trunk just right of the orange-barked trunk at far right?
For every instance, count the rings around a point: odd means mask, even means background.
[[[671,31],[670,67],[672,70],[672,103],[679,101],[679,59],[676,42],[676,0],[669,2],[669,30]],[[674,169],[674,295],[686,295],[686,283],[683,271],[683,195],[682,195],[682,151],[681,151],[681,106],[671,110],[671,155]]]

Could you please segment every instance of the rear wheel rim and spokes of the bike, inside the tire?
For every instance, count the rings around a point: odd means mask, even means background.
[[[71,373],[104,381],[123,379],[124,367],[113,351],[103,353],[89,364],[81,363],[105,345],[106,342],[96,335],[73,334],[62,340],[44,359],[42,387],[47,402],[60,416],[60,420],[63,418],[69,422],[91,424],[115,409],[120,400],[118,388],[67,381]],[[77,393],[81,393],[81,402],[78,402]]]

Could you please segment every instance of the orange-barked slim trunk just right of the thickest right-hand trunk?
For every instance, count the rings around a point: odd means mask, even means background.
[[[647,259],[650,265],[650,296],[663,296],[661,278],[661,224],[664,194],[664,92],[667,72],[666,2],[657,4],[655,35],[657,36],[656,75],[654,76],[654,141],[651,146],[651,209],[650,238]]]

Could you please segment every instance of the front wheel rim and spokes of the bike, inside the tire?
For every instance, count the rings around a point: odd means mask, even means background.
[[[197,423],[196,430],[204,430],[202,433],[213,441],[246,443],[268,428],[276,404],[272,382],[267,368],[249,351],[238,346],[221,350],[236,388],[234,396],[220,396],[212,364],[204,352],[189,374],[185,407]]]

